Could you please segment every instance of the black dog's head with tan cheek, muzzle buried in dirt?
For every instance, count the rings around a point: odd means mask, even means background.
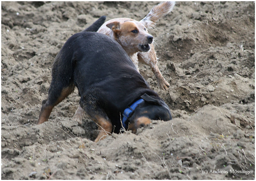
[[[147,94],[142,95],[141,98],[144,102],[139,104],[129,116],[129,130],[136,132],[137,128],[149,124],[151,120],[172,119],[169,107],[162,99]]]

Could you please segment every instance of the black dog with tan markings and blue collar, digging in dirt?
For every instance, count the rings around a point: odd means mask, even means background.
[[[52,108],[75,86],[80,106],[99,125],[95,142],[107,133],[119,133],[122,125],[136,132],[152,119],[172,119],[169,107],[149,88],[120,44],[106,35],[88,32],[97,31],[103,18],[71,36],[57,54],[37,124],[47,121]]]

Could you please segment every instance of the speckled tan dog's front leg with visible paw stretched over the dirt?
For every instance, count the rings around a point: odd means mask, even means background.
[[[167,90],[168,87],[170,87],[170,84],[165,80],[156,64],[157,58],[153,44],[150,44],[150,47],[151,49],[148,52],[138,52],[138,61],[145,63],[146,65],[149,65],[153,73],[155,74],[155,77],[160,88],[163,90]]]

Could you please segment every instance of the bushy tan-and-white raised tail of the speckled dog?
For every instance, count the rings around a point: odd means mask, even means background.
[[[156,23],[166,16],[169,12],[173,10],[175,1],[162,2],[154,6],[151,11],[140,20],[140,22],[147,28],[152,29],[156,28]]]

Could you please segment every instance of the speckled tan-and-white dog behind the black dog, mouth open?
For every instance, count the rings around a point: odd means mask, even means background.
[[[114,18],[106,21],[97,32],[116,40],[130,56],[138,69],[138,61],[149,65],[156,76],[160,88],[167,90],[170,86],[157,66],[157,56],[153,37],[148,33],[156,23],[172,11],[175,2],[162,2],[154,6],[142,20],[131,18]]]

